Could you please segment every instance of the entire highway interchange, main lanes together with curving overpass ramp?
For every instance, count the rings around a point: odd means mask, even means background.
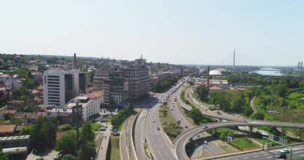
[[[173,97],[178,97],[180,95],[180,92],[182,90],[182,84],[182,82],[179,82],[178,84],[176,84],[176,86],[170,88],[167,92],[157,94],[157,98],[152,97],[144,104],[143,107],[145,109],[142,110],[142,112],[138,116],[134,127],[134,146],[138,159],[149,159],[144,154],[143,143],[145,142],[145,138],[154,159],[189,159],[189,157],[185,153],[185,144],[191,137],[193,137],[193,139],[196,138],[196,134],[200,134],[201,137],[203,137],[204,134],[202,134],[202,132],[208,129],[230,126],[275,126],[288,128],[304,128],[304,123],[242,120],[232,116],[224,116],[204,112],[202,109],[201,111],[203,115],[232,121],[209,123],[207,124],[207,128],[204,128],[205,125],[193,127],[191,123],[186,120],[186,118],[183,118],[183,114],[178,109],[176,102],[173,102]],[[174,90],[176,91],[174,92]],[[160,125],[158,116],[159,107],[162,105],[162,103],[158,103],[158,100],[160,99],[162,101],[165,101],[167,97],[169,99],[168,105],[170,107],[170,110],[172,109],[171,112],[174,118],[176,120],[181,121],[180,125],[182,127],[188,126],[188,128],[184,127],[185,131],[179,134],[174,139],[173,144],[164,133]],[[178,98],[178,101],[181,102],[180,97]],[[181,103],[183,107],[190,109],[189,106],[187,106],[183,102]],[[160,129],[158,130],[157,127],[159,127]],[[304,156],[304,150],[302,150],[303,148],[303,145],[294,147],[295,150],[298,150],[293,152],[294,156]],[[206,151],[210,154],[223,152],[220,147],[213,144],[212,142],[210,142],[208,147],[204,149],[206,149]],[[225,157],[225,159],[271,159],[270,156],[271,158],[273,158],[273,154],[267,153],[265,151],[259,151],[254,153],[229,156]],[[215,159],[215,157],[213,159]]]

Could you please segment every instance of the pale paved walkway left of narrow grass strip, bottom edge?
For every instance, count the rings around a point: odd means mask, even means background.
[[[107,146],[110,141],[110,135],[111,135],[110,128],[112,127],[111,124],[107,124],[107,125],[108,125],[107,129],[103,132],[103,138],[97,153],[96,160],[106,159],[105,157],[106,157]]]

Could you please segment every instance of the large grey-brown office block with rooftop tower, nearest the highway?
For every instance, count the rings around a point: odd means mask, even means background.
[[[135,65],[123,68],[124,78],[128,82],[128,100],[134,102],[137,98],[146,95],[149,91],[149,70],[145,66],[146,59],[142,56],[135,59]]]

